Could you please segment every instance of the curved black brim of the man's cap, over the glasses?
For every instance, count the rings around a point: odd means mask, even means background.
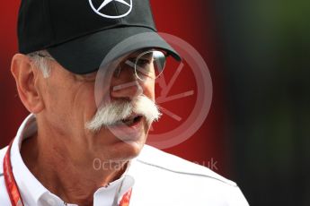
[[[66,70],[83,74],[98,70],[111,50],[114,57],[120,57],[147,47],[164,49],[177,61],[182,60],[173,47],[154,30],[133,26],[101,30],[47,50]]]

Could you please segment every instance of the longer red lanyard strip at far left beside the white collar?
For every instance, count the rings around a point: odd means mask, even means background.
[[[10,161],[12,143],[13,142],[10,143],[4,156],[4,182],[7,193],[10,196],[12,206],[23,206],[22,196],[20,191],[18,190],[18,186],[14,179],[12,165]]]

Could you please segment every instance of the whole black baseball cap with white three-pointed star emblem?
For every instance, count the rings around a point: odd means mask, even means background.
[[[156,47],[181,61],[157,34],[149,0],[22,0],[19,11],[20,53],[46,49],[72,73],[95,72],[113,47],[143,33],[125,51]]]

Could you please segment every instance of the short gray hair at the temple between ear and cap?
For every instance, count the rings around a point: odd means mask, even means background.
[[[40,50],[32,52],[27,56],[29,56],[34,64],[36,64],[36,66],[40,69],[43,77],[48,78],[50,74],[49,60],[55,61],[55,59],[49,55],[49,52],[47,50]]]

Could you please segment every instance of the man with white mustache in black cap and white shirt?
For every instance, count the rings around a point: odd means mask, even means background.
[[[248,205],[235,183],[145,145],[155,79],[181,60],[148,0],[22,0],[18,37],[31,115],[0,150],[2,206]]]

